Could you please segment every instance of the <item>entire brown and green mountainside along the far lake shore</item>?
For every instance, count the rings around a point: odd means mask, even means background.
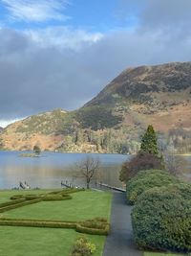
[[[191,62],[124,70],[89,103],[67,112],[54,109],[5,128],[8,150],[136,152],[148,124],[160,147],[191,151]]]

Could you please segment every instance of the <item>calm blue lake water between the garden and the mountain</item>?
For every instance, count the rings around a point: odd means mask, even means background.
[[[11,189],[19,182],[27,181],[32,188],[60,188],[61,180],[74,186],[85,186],[82,178],[75,178],[75,163],[86,157],[86,153],[43,152],[41,157],[20,157],[19,151],[0,151],[0,189]],[[122,154],[89,154],[98,157],[101,181],[112,186],[123,187],[118,180],[121,164],[130,159]],[[191,156],[185,157],[187,176],[191,178]],[[93,181],[93,186],[95,181]]]

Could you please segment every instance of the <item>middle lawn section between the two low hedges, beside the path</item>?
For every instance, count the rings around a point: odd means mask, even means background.
[[[83,191],[72,194],[73,199],[42,201],[17,208],[2,215],[6,218],[84,221],[103,217],[109,220],[111,194]]]

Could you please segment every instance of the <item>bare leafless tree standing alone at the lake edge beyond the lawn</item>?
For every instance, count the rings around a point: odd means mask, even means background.
[[[86,156],[80,162],[76,163],[78,177],[85,179],[87,189],[90,188],[90,183],[94,178],[97,178],[100,161],[98,158]]]

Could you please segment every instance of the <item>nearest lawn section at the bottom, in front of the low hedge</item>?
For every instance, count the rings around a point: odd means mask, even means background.
[[[76,238],[71,229],[0,226],[1,256],[69,256]],[[105,237],[85,235],[96,244],[94,256],[102,253]]]

